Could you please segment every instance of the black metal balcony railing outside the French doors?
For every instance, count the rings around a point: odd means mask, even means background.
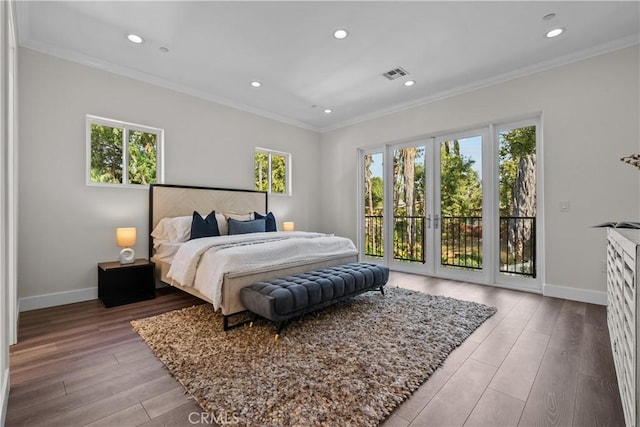
[[[423,216],[394,216],[393,259],[425,262]],[[482,217],[442,217],[441,265],[482,269]],[[365,216],[365,255],[384,256],[383,216]],[[536,277],[535,217],[500,217],[500,272]]]

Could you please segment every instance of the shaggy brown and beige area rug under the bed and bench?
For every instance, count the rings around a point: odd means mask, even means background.
[[[388,288],[291,321],[227,332],[211,305],[134,330],[203,410],[256,426],[375,426],[495,313],[486,305]]]

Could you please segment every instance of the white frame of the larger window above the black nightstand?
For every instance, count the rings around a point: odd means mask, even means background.
[[[102,126],[117,127],[123,130],[123,181],[121,184],[113,182],[95,182],[91,180],[91,125],[98,124]],[[85,163],[85,181],[88,186],[95,187],[115,187],[115,188],[141,188],[147,189],[148,185],[132,184],[129,182],[129,131],[139,131],[145,133],[152,133],[156,135],[156,184],[164,183],[164,129],[154,128],[151,126],[141,125],[137,123],[125,122],[122,120],[114,120],[106,117],[94,116],[87,114],[85,125],[85,148],[86,148],[86,163]]]

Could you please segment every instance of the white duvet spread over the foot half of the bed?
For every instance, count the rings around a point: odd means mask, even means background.
[[[167,277],[183,286],[194,286],[213,301],[217,310],[222,303],[222,281],[226,273],[258,271],[272,265],[357,253],[347,238],[303,231],[205,237],[180,247]]]

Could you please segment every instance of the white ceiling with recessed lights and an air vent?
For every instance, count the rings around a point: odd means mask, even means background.
[[[20,46],[318,131],[640,41],[637,1],[18,1],[17,16]]]

